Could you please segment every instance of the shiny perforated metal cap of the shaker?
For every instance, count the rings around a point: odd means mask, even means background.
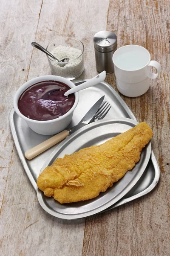
[[[107,30],[97,32],[94,35],[94,48],[99,52],[111,52],[117,46],[115,33]]]

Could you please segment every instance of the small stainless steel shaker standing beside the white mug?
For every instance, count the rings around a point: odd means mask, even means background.
[[[94,35],[94,50],[97,71],[102,72],[105,70],[107,74],[114,72],[112,57],[116,49],[117,37],[115,33],[103,30]]]

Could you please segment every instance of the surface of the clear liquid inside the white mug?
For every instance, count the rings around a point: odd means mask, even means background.
[[[144,67],[148,61],[149,56],[147,52],[131,51],[119,55],[115,60],[115,64],[124,70],[137,70]]]

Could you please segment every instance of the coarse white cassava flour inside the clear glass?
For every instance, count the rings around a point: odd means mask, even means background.
[[[59,60],[68,57],[69,61],[64,66],[48,58],[51,72],[53,75],[63,76],[65,78],[76,78],[84,70],[82,51],[70,46],[58,46],[51,53]],[[81,55],[81,56],[80,56]],[[80,56],[80,57],[79,57]]]

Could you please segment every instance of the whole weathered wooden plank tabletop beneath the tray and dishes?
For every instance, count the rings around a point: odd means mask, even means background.
[[[0,255],[170,255],[170,0],[1,0],[0,7]],[[17,155],[8,123],[12,98],[27,80],[50,74],[36,41],[61,36],[85,45],[85,72],[97,74],[93,36],[116,33],[118,47],[139,44],[162,67],[143,96],[122,96],[138,121],[153,129],[158,186],[135,201],[77,221],[53,218],[40,207]],[[106,81],[116,90],[114,74]]]

